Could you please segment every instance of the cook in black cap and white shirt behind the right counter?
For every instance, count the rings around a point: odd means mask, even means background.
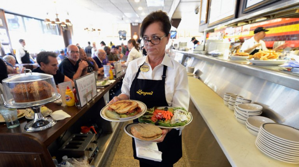
[[[269,31],[268,29],[265,29],[263,27],[257,27],[254,30],[254,36],[251,37],[250,39],[246,40],[243,44],[240,50],[243,50],[244,52],[249,53],[250,55],[253,55],[255,53],[258,52],[258,50],[268,50],[266,47],[265,42],[262,40],[265,36],[266,33]],[[281,44],[278,47],[274,48],[273,50],[279,50],[281,48],[284,48],[287,45],[287,43],[285,44]]]

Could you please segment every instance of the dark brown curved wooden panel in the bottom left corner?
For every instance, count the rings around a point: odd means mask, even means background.
[[[0,166],[55,167],[47,147],[24,133],[0,133]]]

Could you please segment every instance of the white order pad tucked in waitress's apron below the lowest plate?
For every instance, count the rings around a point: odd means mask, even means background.
[[[144,158],[158,162],[162,161],[162,152],[159,151],[157,143],[141,141],[136,138],[134,138],[134,140],[136,156],[138,158]]]

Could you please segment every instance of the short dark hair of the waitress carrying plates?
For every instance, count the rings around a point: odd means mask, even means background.
[[[171,23],[169,20],[169,17],[167,16],[167,13],[158,10],[155,12],[150,13],[147,15],[140,27],[140,36],[143,37],[145,29],[152,23],[158,22],[161,24],[161,30],[166,34],[166,36],[169,34],[171,29]]]

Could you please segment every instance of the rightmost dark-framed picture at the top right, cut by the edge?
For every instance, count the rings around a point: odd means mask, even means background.
[[[244,0],[242,13],[248,13],[280,0]]]

